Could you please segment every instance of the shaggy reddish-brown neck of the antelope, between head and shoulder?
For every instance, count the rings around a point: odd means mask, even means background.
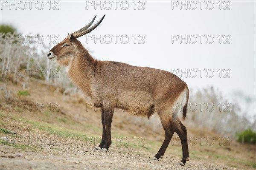
[[[97,67],[98,61],[85,48],[77,51],[70,63],[68,74],[71,80],[88,96],[91,96],[93,72]]]

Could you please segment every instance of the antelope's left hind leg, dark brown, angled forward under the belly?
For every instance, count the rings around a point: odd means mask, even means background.
[[[163,158],[163,155],[172,139],[173,133],[175,132],[175,129],[172,128],[171,118],[169,117],[169,115],[166,115],[166,117],[164,117],[164,116],[165,115],[160,115],[160,120],[163,125],[164,132],[165,132],[165,138],[164,138],[162,146],[160,147],[160,150],[154,156],[154,160]]]

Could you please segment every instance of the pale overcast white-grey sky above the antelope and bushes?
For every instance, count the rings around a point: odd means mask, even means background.
[[[1,23],[24,35],[41,34],[53,46],[96,14],[95,22],[106,14],[98,28],[79,38],[96,59],[170,71],[189,88],[213,85],[223,94],[242,91],[255,99],[255,0],[11,3],[1,0]]]

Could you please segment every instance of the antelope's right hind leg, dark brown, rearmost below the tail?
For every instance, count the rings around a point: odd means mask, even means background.
[[[176,133],[180,137],[181,146],[182,146],[182,160],[180,162],[180,165],[185,165],[186,161],[189,161],[189,147],[188,147],[188,141],[187,141],[187,132],[186,127],[180,122],[179,119],[175,120],[176,125]]]

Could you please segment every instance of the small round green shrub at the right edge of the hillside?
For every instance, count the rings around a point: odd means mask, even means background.
[[[250,129],[244,130],[241,133],[237,133],[236,136],[238,137],[238,142],[256,144],[256,132],[253,132]]]

